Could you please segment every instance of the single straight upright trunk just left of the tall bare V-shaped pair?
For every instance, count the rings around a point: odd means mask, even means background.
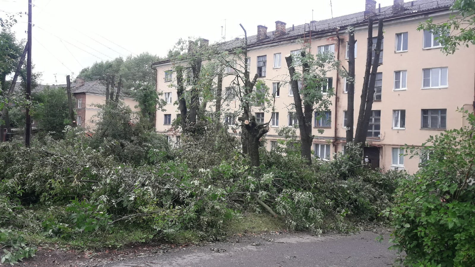
[[[372,40],[371,40],[372,41]],[[355,105],[355,29],[350,27],[348,31],[348,76],[347,91],[348,105],[346,108],[346,143],[353,142],[354,133],[354,105]]]

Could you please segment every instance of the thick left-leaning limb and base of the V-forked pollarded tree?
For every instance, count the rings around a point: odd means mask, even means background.
[[[305,52],[302,52],[302,56],[305,56]],[[308,165],[312,164],[312,142],[314,135],[312,134],[312,117],[314,107],[311,104],[303,104],[302,97],[298,89],[298,80],[294,79],[295,67],[292,66],[292,57],[287,55],[285,57],[287,67],[289,69],[290,84],[292,93],[294,94],[295,113],[297,114],[298,127],[300,130],[300,153],[302,158],[307,161]],[[303,64],[303,72],[308,73],[308,64]]]

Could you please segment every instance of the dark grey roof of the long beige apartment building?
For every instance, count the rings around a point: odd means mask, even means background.
[[[448,10],[452,6],[455,0],[414,0],[404,3],[404,10],[393,13],[392,6],[376,8],[376,14],[372,16],[373,19],[392,19],[398,17],[406,17],[408,15],[419,14],[421,12],[436,11],[436,10]],[[310,30],[312,34],[322,33],[325,31],[334,31],[337,28],[345,28],[350,25],[359,25],[367,23],[368,19],[364,17],[364,11],[336,17],[332,19],[323,19],[319,21],[311,21]],[[285,28],[285,34],[275,35],[274,30],[267,32],[267,37],[262,40],[257,40],[257,35],[247,37],[247,46],[252,47],[254,45],[260,45],[268,42],[277,42],[285,39],[292,39],[302,37],[304,33],[308,34],[309,24],[296,25]],[[224,49],[232,49],[243,45],[244,38],[235,38],[230,41],[219,43]],[[170,59],[161,60],[153,63],[152,65],[166,63]]]

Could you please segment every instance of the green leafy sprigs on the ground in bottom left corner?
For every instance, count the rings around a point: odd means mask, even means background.
[[[14,265],[24,258],[35,255],[37,249],[29,246],[25,238],[16,231],[0,228],[0,263]]]

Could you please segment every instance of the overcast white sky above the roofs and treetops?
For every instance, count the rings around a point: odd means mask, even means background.
[[[408,0],[406,0],[407,2]],[[378,0],[381,7],[392,0]],[[364,10],[365,0],[332,0],[333,17]],[[226,20],[226,40],[257,34],[257,25],[274,30],[275,21],[287,27],[313,19],[332,17],[330,0],[33,0],[35,71],[42,84],[66,83],[95,61],[148,51],[164,57],[179,38],[221,40]],[[0,0],[5,12],[25,12],[28,0]],[[8,13],[8,14],[10,14]],[[26,39],[27,15],[13,28]],[[74,74],[73,74],[74,73]],[[55,80],[56,74],[57,82]]]

